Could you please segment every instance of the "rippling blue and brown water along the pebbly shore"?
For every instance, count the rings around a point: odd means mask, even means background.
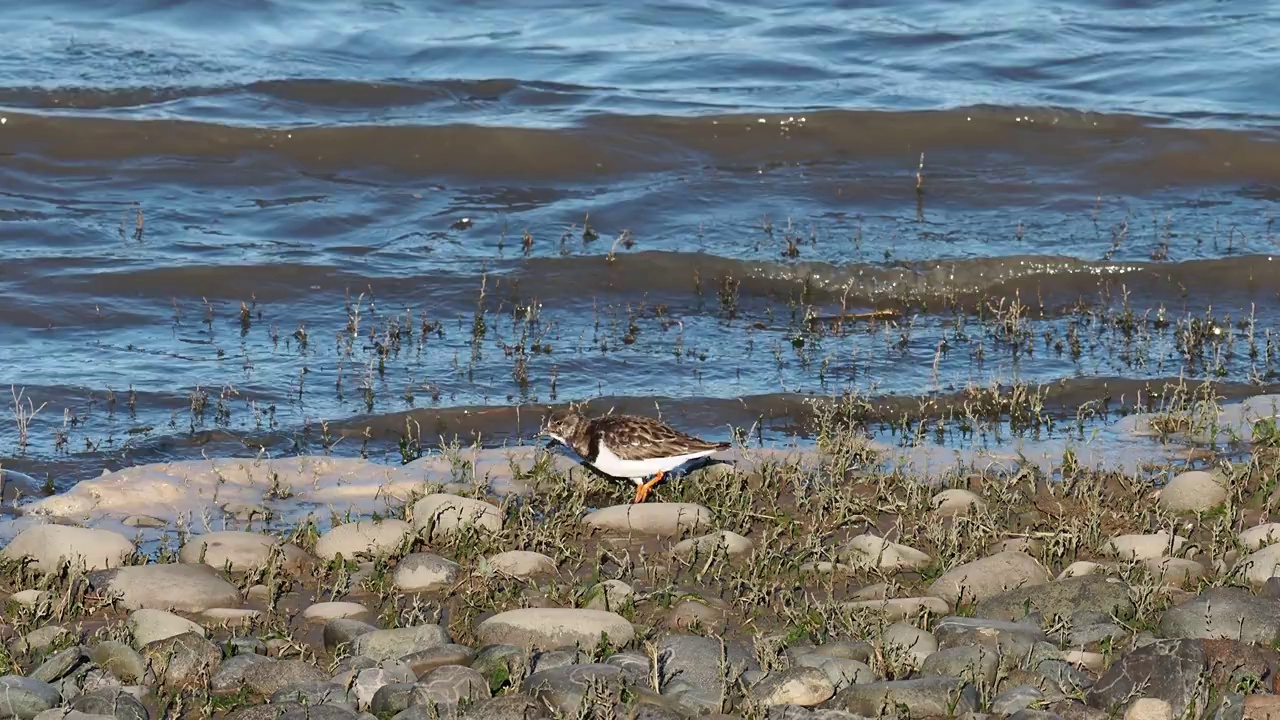
[[[59,487],[337,438],[392,460],[413,420],[504,442],[602,396],[768,438],[842,391],[1043,383],[1074,418],[1277,382],[1274,4],[63,0],[0,26],[0,384],[42,407],[0,460]]]

